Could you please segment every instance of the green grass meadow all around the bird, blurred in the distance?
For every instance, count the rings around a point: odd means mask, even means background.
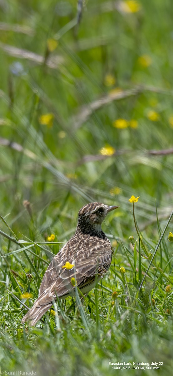
[[[169,376],[172,5],[141,1],[138,12],[126,13],[118,2],[88,1],[78,26],[76,5],[1,5],[1,372]],[[57,41],[52,52],[48,39]],[[43,124],[46,114],[52,120]],[[137,127],[116,128],[119,118]],[[102,148],[114,153],[102,155]],[[134,213],[131,195],[140,196]],[[74,301],[54,305],[55,315],[22,326],[24,305],[37,299],[49,262],[74,234],[79,209],[92,201],[120,206],[103,223],[115,248],[109,272],[82,305],[76,291]],[[163,365],[119,370],[109,362]]]

